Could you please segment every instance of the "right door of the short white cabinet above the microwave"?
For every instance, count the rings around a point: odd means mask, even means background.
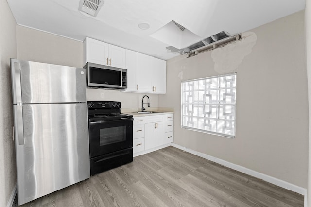
[[[126,68],[126,50],[124,48],[109,45],[109,66],[116,68],[125,69]]]

